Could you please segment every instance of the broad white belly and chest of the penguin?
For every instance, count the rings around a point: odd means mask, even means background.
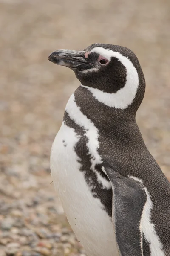
[[[93,131],[89,131],[92,132]],[[79,136],[62,123],[51,150],[51,175],[68,221],[88,256],[118,256],[111,218],[79,170]],[[90,143],[90,141],[88,142]],[[94,149],[95,154],[95,149]]]

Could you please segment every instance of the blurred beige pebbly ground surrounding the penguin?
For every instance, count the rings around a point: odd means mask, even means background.
[[[85,256],[49,168],[79,81],[48,55],[98,42],[136,53],[147,85],[137,123],[170,179],[170,1],[0,0],[0,35],[0,256]]]

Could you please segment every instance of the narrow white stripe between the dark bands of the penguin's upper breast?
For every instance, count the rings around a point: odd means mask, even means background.
[[[82,128],[85,129],[85,135],[88,137],[87,148],[89,154],[91,155],[91,170],[96,173],[97,179],[99,183],[102,184],[103,188],[111,189],[110,181],[103,178],[95,169],[96,164],[102,163],[101,157],[97,151],[97,149],[99,148],[98,130],[95,127],[94,123],[90,119],[88,119],[87,116],[83,115],[80,107],[77,106],[74,93],[68,100],[65,110],[67,111],[70,118],[77,125],[80,125]]]

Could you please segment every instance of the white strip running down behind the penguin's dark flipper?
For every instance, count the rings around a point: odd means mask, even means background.
[[[142,180],[138,179],[137,177],[129,176],[129,178],[143,184]],[[144,190],[147,195],[147,201],[144,205],[140,227],[145,238],[150,243],[150,256],[165,256],[159,236],[156,234],[155,225],[151,220],[151,209],[153,208],[153,202],[151,201],[150,194],[145,186]]]

